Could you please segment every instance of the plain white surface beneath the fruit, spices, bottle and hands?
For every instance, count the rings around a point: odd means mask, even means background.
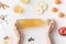
[[[38,2],[38,0],[30,0],[29,4],[23,4],[20,2],[20,0],[0,0],[3,3],[7,3],[10,6],[10,8],[7,8],[6,10],[0,9],[0,14],[8,14],[8,22],[9,24],[1,24],[0,23],[0,44],[3,44],[3,37],[9,35],[11,37],[10,44],[16,44],[16,36],[14,34],[13,28],[16,19],[55,19],[56,20],[56,29],[52,33],[52,40],[54,44],[66,44],[66,36],[61,36],[58,34],[58,28],[66,26],[66,15],[63,19],[59,19],[57,16],[58,12],[64,12],[66,14],[66,0],[62,0],[61,4],[55,4],[54,0],[43,0],[47,3],[48,9],[44,12],[44,14],[36,14],[35,13],[35,4]],[[19,14],[13,12],[14,6],[21,6],[24,9],[24,12]],[[52,8],[56,7],[58,9],[58,12],[53,13]],[[2,29],[3,26],[3,29]],[[36,28],[35,28],[36,29]],[[45,31],[47,28],[37,28],[37,30],[28,30],[24,31],[24,43],[23,44],[46,44],[46,37],[45,37]],[[28,38],[33,37],[34,42],[28,42]]]

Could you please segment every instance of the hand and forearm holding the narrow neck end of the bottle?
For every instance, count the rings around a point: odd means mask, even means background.
[[[50,20],[48,19],[48,30],[47,30],[47,33],[46,33],[47,44],[53,44],[53,42],[51,40],[51,33],[54,30],[54,28],[55,28],[55,20]]]

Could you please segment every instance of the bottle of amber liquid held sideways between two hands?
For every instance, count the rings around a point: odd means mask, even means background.
[[[40,19],[25,19],[25,20],[16,21],[18,29],[42,26],[46,24],[47,22],[45,20],[40,20]]]

